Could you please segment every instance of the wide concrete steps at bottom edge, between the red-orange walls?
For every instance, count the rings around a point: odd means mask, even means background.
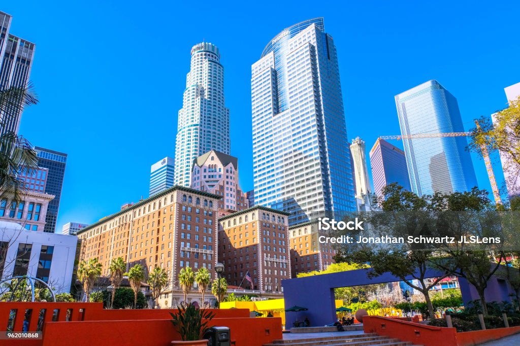
[[[330,335],[305,339],[275,340],[264,346],[420,346],[413,345],[411,342],[400,341],[377,334],[356,334],[356,335]]]

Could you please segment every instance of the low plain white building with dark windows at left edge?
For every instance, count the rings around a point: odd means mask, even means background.
[[[77,237],[35,232],[0,220],[0,278],[30,275],[47,282],[55,293],[70,292]]]

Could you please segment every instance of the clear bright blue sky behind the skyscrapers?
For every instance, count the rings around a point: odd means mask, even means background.
[[[222,54],[244,191],[253,187],[251,64],[296,22],[324,17],[348,137],[368,150],[378,136],[399,134],[394,96],[428,79],[457,97],[466,130],[504,108],[503,88],[520,82],[518,1],[9,1],[0,9],[14,17],[12,34],[36,44],[31,79],[41,103],[23,114],[20,133],[69,154],[58,231],[148,195],[150,165],[174,155],[190,49],[203,39]],[[473,156],[473,164],[489,190],[484,162]]]

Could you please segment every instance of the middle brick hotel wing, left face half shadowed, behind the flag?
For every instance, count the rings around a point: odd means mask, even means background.
[[[218,261],[229,285],[282,292],[281,281],[291,278],[288,216],[255,206],[218,220]],[[244,280],[248,271],[252,283]]]

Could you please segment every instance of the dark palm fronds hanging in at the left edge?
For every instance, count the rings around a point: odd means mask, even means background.
[[[23,111],[25,107],[38,103],[33,87],[0,87],[0,127],[6,126],[13,111]],[[21,201],[25,183],[18,180],[20,169],[29,173],[38,168],[38,158],[31,143],[15,132],[6,131],[0,136],[0,201],[7,204]],[[9,203],[9,204],[10,204]]]

